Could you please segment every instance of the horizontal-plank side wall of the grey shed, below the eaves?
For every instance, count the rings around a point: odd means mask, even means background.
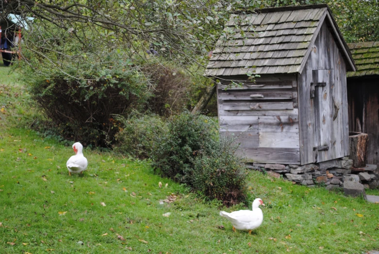
[[[244,84],[217,87],[221,135],[234,135],[248,162],[299,164],[296,75],[265,75],[255,84],[246,76],[233,80]]]

